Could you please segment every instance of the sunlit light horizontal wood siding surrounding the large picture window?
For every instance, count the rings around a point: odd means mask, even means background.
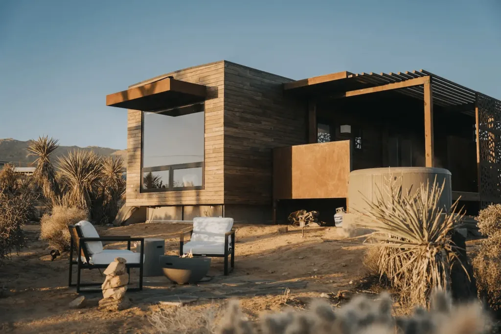
[[[128,206],[221,204],[223,177],[223,94],[224,62],[197,66],[164,75],[176,80],[207,86],[205,101],[205,187],[203,190],[140,192],[141,112],[128,111],[127,199]]]

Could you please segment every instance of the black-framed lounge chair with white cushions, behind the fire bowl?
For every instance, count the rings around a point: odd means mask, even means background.
[[[224,257],[224,275],[235,266],[235,230],[233,218],[195,217],[193,227],[179,235],[179,255],[191,252],[193,256]],[[190,241],[184,243],[184,234],[191,232]]]

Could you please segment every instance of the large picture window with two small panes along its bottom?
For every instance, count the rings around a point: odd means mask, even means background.
[[[141,191],[203,188],[203,103],[143,112]]]

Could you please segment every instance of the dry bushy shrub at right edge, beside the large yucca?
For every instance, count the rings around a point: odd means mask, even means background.
[[[473,258],[478,296],[485,298],[494,310],[501,309],[501,205],[480,210],[478,228],[487,236]]]

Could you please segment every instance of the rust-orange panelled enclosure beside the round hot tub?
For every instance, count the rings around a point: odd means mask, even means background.
[[[274,198],[347,198],[350,152],[349,140],[275,149]]]

